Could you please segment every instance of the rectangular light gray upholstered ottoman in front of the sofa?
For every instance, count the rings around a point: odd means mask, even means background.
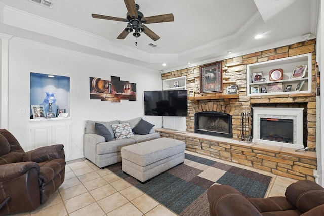
[[[186,144],[180,140],[158,138],[121,148],[121,171],[145,182],[184,162]]]

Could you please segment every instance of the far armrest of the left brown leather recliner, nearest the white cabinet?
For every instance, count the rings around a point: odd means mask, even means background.
[[[52,160],[56,158],[65,159],[64,146],[62,144],[44,146],[25,152],[22,161],[33,161],[36,163]]]

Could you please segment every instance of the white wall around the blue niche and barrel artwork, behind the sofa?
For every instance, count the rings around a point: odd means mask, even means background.
[[[71,158],[83,155],[83,132],[86,120],[127,120],[142,116],[161,127],[161,117],[144,116],[144,90],[161,90],[158,71],[133,66],[88,54],[64,50],[17,37],[9,41],[8,129],[25,150],[30,150],[30,72],[70,77]],[[136,83],[137,100],[112,103],[90,100],[89,77]],[[59,100],[59,98],[57,98]],[[24,109],[25,115],[21,115]]]

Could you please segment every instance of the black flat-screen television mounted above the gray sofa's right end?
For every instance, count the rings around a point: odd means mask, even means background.
[[[187,90],[144,91],[145,115],[187,116]]]

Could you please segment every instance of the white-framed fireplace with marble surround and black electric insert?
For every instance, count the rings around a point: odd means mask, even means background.
[[[253,142],[290,148],[304,148],[304,108],[253,108]]]

